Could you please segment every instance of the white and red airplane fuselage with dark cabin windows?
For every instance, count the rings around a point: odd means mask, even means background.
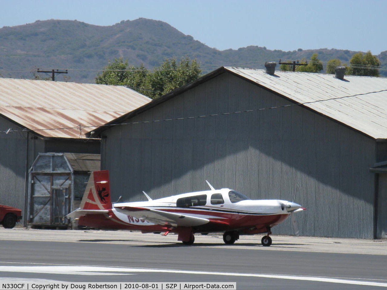
[[[195,233],[238,230],[245,234],[267,232],[267,229],[283,222],[294,210],[296,203],[284,200],[250,200],[234,190],[184,193],[166,198],[130,203],[115,203],[108,213],[86,215],[79,218],[80,225],[98,228],[141,230],[142,232],[173,232],[168,224],[148,222],[127,215],[122,208],[141,208],[205,218],[208,223],[192,227]]]

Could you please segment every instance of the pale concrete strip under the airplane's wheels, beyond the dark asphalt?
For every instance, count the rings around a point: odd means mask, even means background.
[[[226,245],[221,235],[195,235],[193,247],[221,247],[264,251],[326,252],[342,254],[387,255],[387,240],[293,237],[272,235],[273,244],[263,247],[263,235],[241,235],[233,245]],[[125,244],[157,246],[181,243],[177,235],[141,234],[128,230],[42,230],[0,228],[0,241],[47,241],[74,243]]]

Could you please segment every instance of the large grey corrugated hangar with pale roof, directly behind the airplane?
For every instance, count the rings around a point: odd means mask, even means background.
[[[113,199],[205,190],[207,179],[308,208],[301,235],[385,238],[386,89],[386,78],[221,67],[93,136]],[[272,230],[293,234],[290,221]]]

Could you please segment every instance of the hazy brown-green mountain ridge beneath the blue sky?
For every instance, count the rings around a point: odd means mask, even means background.
[[[339,58],[349,63],[358,51],[313,49],[297,51],[269,50],[260,46],[219,51],[210,48],[169,24],[139,18],[112,26],[96,26],[77,20],[37,20],[31,24],[0,28],[0,74],[2,77],[33,78],[41,70],[68,69],[71,82],[94,83],[98,70],[108,60],[122,57],[130,65],[151,69],[164,58],[197,58],[204,73],[221,66],[263,68],[267,60],[309,59],[313,53],[328,61]],[[379,56],[387,64],[387,51]],[[381,71],[384,73],[384,71]],[[387,72],[385,72],[387,76]],[[48,77],[39,73],[39,77]]]

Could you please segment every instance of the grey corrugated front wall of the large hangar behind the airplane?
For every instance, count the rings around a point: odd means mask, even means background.
[[[103,131],[101,168],[122,201],[215,188],[295,201],[301,235],[373,238],[375,140],[228,72]],[[245,113],[258,108],[271,108]],[[215,115],[213,115],[215,114]],[[201,118],[187,118],[206,116]],[[274,234],[293,234],[290,219]]]

